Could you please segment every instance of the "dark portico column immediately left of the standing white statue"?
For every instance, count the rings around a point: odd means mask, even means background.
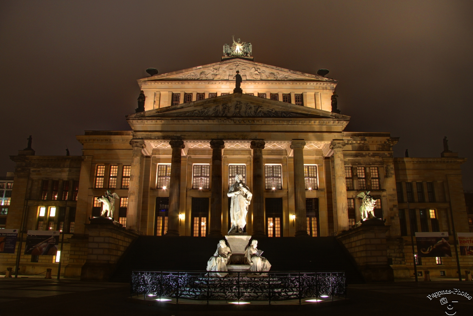
[[[221,139],[212,139],[212,193],[210,196],[209,237],[222,237],[222,149]]]

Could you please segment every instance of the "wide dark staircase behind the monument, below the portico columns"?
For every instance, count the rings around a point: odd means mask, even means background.
[[[205,271],[218,238],[138,237],[117,263],[112,281],[130,281],[131,271]],[[362,283],[355,261],[335,237],[258,240],[271,271],[345,271],[348,283]]]

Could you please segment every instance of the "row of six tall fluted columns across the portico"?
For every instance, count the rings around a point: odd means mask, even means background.
[[[146,147],[143,139],[132,139],[131,177],[128,189],[127,229],[137,231],[139,223],[139,187],[141,149]],[[172,149],[171,177],[169,182],[169,210],[167,234],[179,235],[179,196],[181,187],[181,150],[184,141],[181,139],[169,141]],[[212,148],[211,198],[210,198],[210,237],[222,236],[222,149],[223,139],[210,140]],[[303,139],[294,139],[290,148],[294,152],[294,199],[296,214],[296,236],[307,236],[306,223],[306,188],[304,176],[304,146]],[[347,191],[345,170],[343,164],[343,140],[333,140],[334,167],[335,167],[335,196],[337,209],[338,231],[348,230]],[[264,219],[264,164],[263,149],[265,142],[255,139],[251,142],[253,149],[253,236],[265,235]]]

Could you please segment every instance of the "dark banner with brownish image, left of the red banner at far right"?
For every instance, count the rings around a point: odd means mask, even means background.
[[[415,233],[419,257],[451,257],[448,232]]]

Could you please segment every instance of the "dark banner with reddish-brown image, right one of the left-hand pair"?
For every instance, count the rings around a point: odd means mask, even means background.
[[[58,244],[59,230],[28,230],[25,254],[54,256]]]

